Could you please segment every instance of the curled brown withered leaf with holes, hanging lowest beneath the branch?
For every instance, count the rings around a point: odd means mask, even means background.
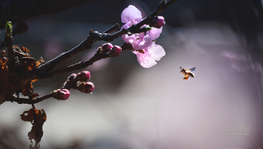
[[[29,140],[32,144],[32,139],[34,139],[36,144],[38,145],[37,148],[39,148],[39,142],[41,141],[41,138],[43,136],[42,126],[46,121],[45,111],[43,109],[37,110],[32,108],[28,111],[24,111],[23,114],[21,114],[20,116],[23,121],[30,122],[32,124],[31,131],[28,132],[27,136],[29,137]],[[32,144],[29,146],[30,149],[33,148]]]

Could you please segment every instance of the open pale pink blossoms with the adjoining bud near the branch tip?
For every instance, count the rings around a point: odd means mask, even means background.
[[[134,6],[129,5],[122,11],[122,23],[126,23],[123,28],[129,28],[131,25],[137,24],[142,20],[141,12]],[[163,17],[153,17],[149,23],[153,28],[146,33],[136,33],[128,36],[122,35],[122,39],[130,43],[134,48],[133,53],[137,56],[137,61],[144,68],[150,68],[157,64],[162,56],[165,56],[165,51],[160,45],[156,45],[152,40],[155,40],[162,33],[162,25],[165,24]],[[142,27],[149,26],[143,25]]]

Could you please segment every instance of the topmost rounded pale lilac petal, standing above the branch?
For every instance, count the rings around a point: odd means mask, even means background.
[[[122,11],[122,23],[127,23],[127,22],[140,22],[142,17],[141,17],[141,11],[138,10],[135,6],[129,5],[127,8],[125,8]],[[135,23],[135,22],[134,22]]]

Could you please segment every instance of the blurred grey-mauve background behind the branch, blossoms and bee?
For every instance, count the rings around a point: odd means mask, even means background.
[[[15,35],[13,45],[47,62],[76,47],[90,29],[103,32],[116,22],[124,25],[120,16],[127,6],[136,6],[144,18],[158,3],[100,0],[31,18],[28,31]],[[166,25],[155,43],[166,55],[157,65],[143,68],[135,54],[124,51],[84,69],[91,72],[92,94],[70,90],[68,100],[35,104],[47,116],[40,148],[263,148],[261,1],[179,0],[159,15]],[[88,60],[104,43],[96,42],[58,68]],[[183,80],[179,67],[196,67],[195,78]],[[80,71],[38,80],[34,92],[50,93]],[[28,148],[32,125],[20,114],[30,108],[15,102],[0,106],[0,148]],[[227,134],[242,132],[249,135]]]

